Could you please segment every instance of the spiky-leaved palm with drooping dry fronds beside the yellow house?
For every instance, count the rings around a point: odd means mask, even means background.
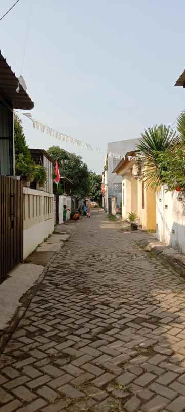
[[[143,179],[147,186],[156,190],[161,184],[161,168],[158,162],[159,153],[166,150],[173,151],[179,142],[176,132],[167,125],[149,127],[141,133],[141,139],[137,145],[139,158],[145,166]]]

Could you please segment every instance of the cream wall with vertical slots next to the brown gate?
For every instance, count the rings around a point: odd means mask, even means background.
[[[23,188],[23,259],[54,230],[54,194]]]

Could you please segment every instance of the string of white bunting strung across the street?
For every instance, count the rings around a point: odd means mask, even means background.
[[[22,113],[22,114],[24,116],[26,116],[29,120],[32,121],[34,129],[37,129],[42,133],[47,133],[49,136],[55,137],[55,139],[57,139],[57,140],[65,141],[66,143],[70,143],[70,145],[73,145],[73,146],[78,146],[79,148],[85,148],[85,149],[91,150],[91,151],[95,150],[98,153],[104,153],[104,151],[101,148],[98,148],[98,147],[93,148],[90,145],[90,143],[85,143],[82,140],[74,139],[73,137],[70,137],[70,136],[68,136],[64,133],[58,132],[57,130],[52,129],[49,126],[44,125],[40,121],[33,119],[31,113]],[[107,155],[109,157],[114,157],[114,158],[117,158],[117,159],[122,158],[120,153],[113,153],[113,152],[108,151]]]

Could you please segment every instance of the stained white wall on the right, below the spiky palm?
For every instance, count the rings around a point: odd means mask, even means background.
[[[165,188],[156,193],[157,239],[185,253],[185,196]]]

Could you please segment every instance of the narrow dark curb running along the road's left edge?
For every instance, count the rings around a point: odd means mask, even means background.
[[[74,229],[73,229],[74,230]],[[71,236],[71,234],[73,233],[73,230],[70,231],[69,236]],[[66,241],[68,241],[68,239],[66,239]],[[65,242],[66,243],[66,242]],[[56,256],[60,253],[61,249],[63,248],[63,244],[61,244],[61,248],[59,251],[55,252],[54,255],[52,256],[52,258],[50,259],[50,261],[46,264],[46,266],[44,267],[42,273],[40,274],[40,276],[38,277],[37,281],[33,284],[32,287],[30,287],[28,289],[28,291],[22,295],[22,297],[20,298],[19,301],[22,301],[22,306],[18,307],[17,311],[14,313],[8,327],[6,328],[6,330],[2,333],[2,335],[0,336],[0,354],[2,354],[2,352],[4,351],[9,339],[11,338],[11,336],[13,335],[18,323],[20,322],[20,320],[23,318],[25,312],[27,311],[33,297],[35,296],[35,294],[37,293],[38,289],[39,289],[39,285],[42,284],[47,272],[48,272],[48,268],[50,266],[50,264],[54,261],[54,259],[56,258]],[[6,280],[5,280],[6,281]]]

